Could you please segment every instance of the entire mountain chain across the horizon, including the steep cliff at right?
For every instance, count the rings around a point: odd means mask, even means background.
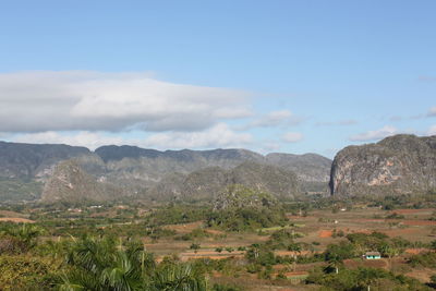
[[[419,194],[436,190],[436,136],[400,134],[316,154],[247,149],[156,150],[0,142],[0,202],[211,201],[241,184],[281,199],[324,193]],[[328,191],[328,186],[330,191]]]

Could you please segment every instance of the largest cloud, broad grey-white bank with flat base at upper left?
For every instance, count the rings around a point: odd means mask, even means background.
[[[198,131],[251,114],[242,90],[173,84],[146,73],[0,74],[0,132]]]

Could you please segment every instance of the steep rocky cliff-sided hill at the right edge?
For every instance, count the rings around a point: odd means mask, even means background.
[[[349,146],[332,162],[332,195],[413,194],[436,189],[436,136],[396,135]]]

